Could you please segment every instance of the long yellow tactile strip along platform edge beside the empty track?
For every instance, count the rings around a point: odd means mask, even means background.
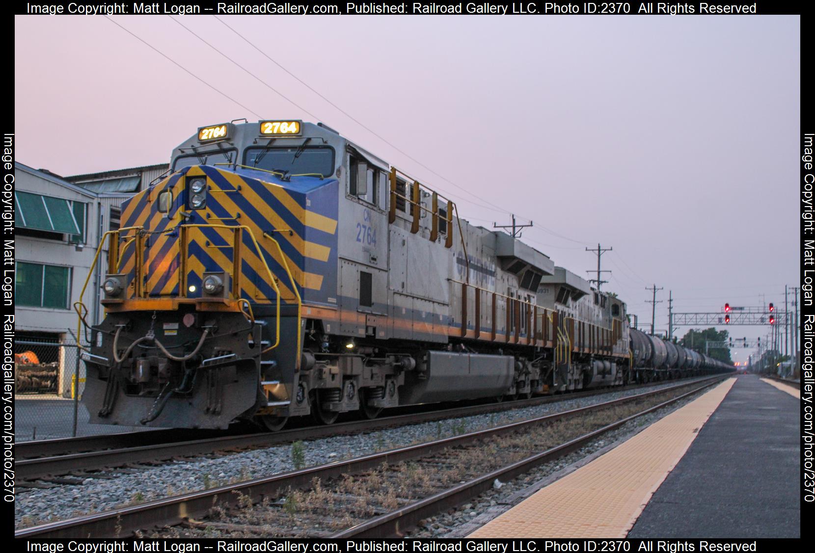
[[[725,380],[469,538],[625,538],[734,382]]]

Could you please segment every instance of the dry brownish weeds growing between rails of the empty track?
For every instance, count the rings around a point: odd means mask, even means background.
[[[623,406],[450,447],[421,459],[383,463],[375,470],[346,474],[332,481],[314,479],[308,489],[289,489],[280,497],[263,498],[259,503],[253,503],[249,496],[242,496],[236,508],[229,511],[219,508],[206,521],[191,521],[183,528],[170,529],[169,533],[157,533],[153,537],[326,537],[526,459],[685,391],[683,388],[660,393]],[[452,430],[456,434],[464,433],[466,426],[456,424]]]

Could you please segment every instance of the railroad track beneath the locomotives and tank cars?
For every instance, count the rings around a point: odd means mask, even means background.
[[[655,384],[664,383],[645,384],[645,386]],[[70,478],[59,476],[73,474],[84,478],[93,476],[90,471],[128,467],[133,466],[135,463],[158,463],[196,455],[215,454],[220,451],[248,450],[298,440],[313,440],[322,437],[370,432],[406,424],[520,409],[640,387],[643,386],[601,388],[600,390],[566,395],[532,397],[511,402],[470,405],[444,410],[428,410],[372,420],[354,420],[329,426],[291,428],[279,432],[234,434],[228,431],[202,431],[196,432],[196,439],[194,440],[188,439],[189,431],[156,430],[22,442],[17,445],[15,450],[17,458],[20,459],[15,466],[16,476],[21,481],[42,479],[61,484],[78,484],[81,479],[73,481]],[[182,439],[183,437],[187,439]]]

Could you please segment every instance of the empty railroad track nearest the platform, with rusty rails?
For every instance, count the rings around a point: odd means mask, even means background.
[[[523,420],[513,424],[504,424],[497,428],[490,428],[478,432],[469,432],[461,434],[456,437],[449,437],[443,440],[425,442],[418,445],[410,445],[401,447],[395,450],[385,451],[377,454],[365,455],[356,459],[349,459],[338,463],[329,463],[317,467],[308,467],[302,470],[286,472],[265,478],[258,478],[252,481],[240,482],[234,485],[224,485],[214,489],[199,491],[192,494],[184,494],[173,498],[164,498],[149,503],[142,503],[132,507],[124,507],[113,511],[104,513],[79,516],[70,520],[63,520],[48,524],[41,524],[28,529],[21,529],[15,532],[18,538],[77,538],[79,536],[90,536],[94,538],[108,538],[108,537],[123,537],[134,532],[147,530],[148,533],[152,532],[156,526],[167,526],[174,524],[187,524],[187,526],[213,526],[218,527],[218,524],[224,523],[208,523],[197,522],[201,517],[207,516],[214,507],[218,511],[226,512],[230,507],[248,507],[252,503],[259,503],[263,507],[277,510],[280,513],[287,513],[289,507],[292,509],[296,507],[296,503],[290,499],[293,497],[293,490],[298,489],[311,489],[319,488],[324,489],[320,483],[339,482],[340,488],[336,494],[332,492],[332,498],[344,498],[348,495],[350,489],[354,489],[353,477],[349,481],[348,475],[377,475],[380,478],[385,478],[385,472],[388,472],[388,467],[399,467],[398,470],[394,468],[396,478],[403,478],[410,476],[411,464],[410,462],[418,463],[419,459],[425,459],[430,463],[429,467],[434,468],[431,476],[434,480],[438,480],[438,474],[447,473],[444,468],[451,464],[451,455],[456,452],[463,453],[465,465],[472,466],[473,463],[469,462],[472,459],[473,448],[478,446],[487,445],[489,447],[491,442],[499,440],[515,440],[514,445],[504,447],[500,446],[500,453],[495,454],[494,450],[491,454],[481,454],[480,459],[506,459],[508,456],[518,457],[523,453],[522,443],[523,439],[529,441],[530,437],[534,437],[532,432],[535,428],[546,428],[558,421],[574,422],[579,417],[596,414],[601,410],[607,409],[626,409],[633,410],[633,412],[624,416],[621,419],[615,420],[612,424],[603,424],[601,428],[593,428],[587,433],[583,433],[578,437],[573,437],[563,443],[558,443],[556,446],[548,448],[543,453],[534,453],[526,456],[522,455],[521,459],[514,459],[512,463],[505,467],[491,468],[487,474],[480,474],[477,477],[464,478],[465,482],[452,487],[445,486],[444,489],[436,490],[433,493],[425,494],[422,498],[408,501],[405,503],[404,498],[398,495],[385,498],[382,505],[375,509],[375,517],[370,520],[363,520],[354,523],[353,520],[348,524],[351,528],[340,533],[327,532],[319,530],[319,524],[312,524],[311,530],[305,532],[306,535],[313,537],[321,537],[326,535],[341,536],[390,536],[397,535],[399,529],[406,529],[412,524],[416,524],[418,520],[430,516],[431,513],[446,510],[450,507],[464,503],[466,499],[477,496],[487,489],[491,482],[500,477],[504,480],[517,476],[525,472],[530,467],[536,464],[547,462],[551,459],[567,454],[573,450],[578,449],[586,442],[593,440],[603,432],[608,432],[610,429],[618,428],[620,425],[625,424],[637,416],[644,415],[652,410],[657,410],[663,406],[667,406],[672,402],[681,400],[688,397],[690,394],[697,393],[703,388],[707,388],[716,384],[723,378],[729,375],[717,375],[702,381],[694,383],[681,383],[669,388],[662,388],[660,390],[640,393],[634,396],[623,397],[621,399],[613,400],[610,402],[603,402],[593,406],[582,407],[580,409],[563,411],[554,415],[547,415],[535,419]],[[672,397],[667,401],[654,400],[654,397],[663,394],[671,394],[678,391],[680,388],[692,388],[687,393],[682,393],[677,397]],[[637,402],[651,402],[652,405],[644,410],[636,407]],[[655,405],[654,405],[655,403]],[[576,427],[575,427],[576,428]],[[518,440],[521,440],[518,442]],[[535,443],[531,445],[535,447]],[[503,443],[503,442],[496,442]],[[495,445],[494,443],[492,445]],[[469,450],[468,450],[469,448]],[[384,464],[383,464],[384,463]],[[455,461],[453,461],[455,463]],[[437,470],[438,469],[438,470]],[[422,469],[427,474],[427,469]],[[437,474],[438,472],[438,474]],[[394,476],[394,475],[390,475]],[[453,475],[453,477],[457,477]],[[362,481],[363,476],[359,476]],[[425,481],[427,479],[425,478]],[[350,482],[350,483],[349,483]],[[370,480],[369,480],[370,482]],[[428,484],[430,488],[433,487],[433,482]],[[345,486],[345,487],[342,487]],[[320,491],[324,494],[324,491]],[[280,500],[280,498],[284,498]],[[357,501],[359,498],[346,498],[348,501]],[[274,503],[273,503],[274,502]],[[287,507],[287,502],[289,507]],[[387,507],[397,508],[388,509]],[[399,507],[399,504],[402,507]],[[335,506],[335,516],[337,512],[341,511],[341,506]],[[383,509],[382,507],[385,507]],[[381,512],[381,511],[385,512]],[[345,512],[348,512],[347,510]],[[281,517],[285,520],[285,516]],[[249,528],[251,525],[241,525],[235,523],[226,523],[227,526],[251,533]],[[242,530],[241,530],[242,529]],[[262,527],[262,531],[266,535],[303,535],[304,532],[298,532],[297,529],[287,529],[281,527],[270,528],[268,525]]]

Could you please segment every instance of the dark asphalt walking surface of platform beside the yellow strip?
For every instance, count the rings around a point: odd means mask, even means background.
[[[800,400],[741,375],[629,538],[800,538]]]

